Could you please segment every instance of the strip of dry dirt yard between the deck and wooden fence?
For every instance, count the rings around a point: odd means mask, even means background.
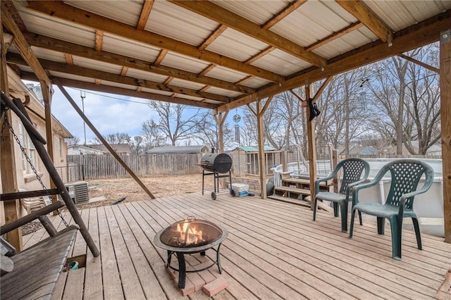
[[[140,177],[140,180],[156,197],[172,196],[202,192],[202,174],[194,175],[168,175],[157,177]],[[78,208],[92,208],[111,204],[125,197],[124,202],[140,201],[149,199],[142,187],[132,178],[87,180],[89,199],[104,196],[106,200],[89,204],[79,204]],[[205,178],[205,192],[213,190],[213,178]]]

